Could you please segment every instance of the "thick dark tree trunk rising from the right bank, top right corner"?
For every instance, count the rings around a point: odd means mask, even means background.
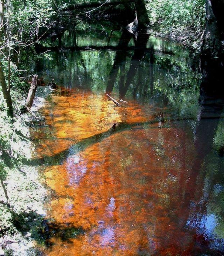
[[[223,0],[206,0],[206,23],[201,38],[203,55],[214,58],[223,54],[223,9]]]

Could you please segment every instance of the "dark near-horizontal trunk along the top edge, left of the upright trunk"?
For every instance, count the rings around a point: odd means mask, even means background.
[[[62,7],[62,11],[72,11],[76,9],[84,9],[84,8],[94,8],[99,6],[112,6],[112,5],[123,5],[128,2],[134,2],[135,0],[108,0],[108,1],[96,1],[96,2],[83,2],[75,5],[68,5],[67,7]]]

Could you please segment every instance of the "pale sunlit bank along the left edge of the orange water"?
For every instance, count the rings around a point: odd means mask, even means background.
[[[30,138],[28,123],[43,120],[37,111],[43,106],[50,93],[48,87],[38,87],[31,114],[23,114],[26,121],[27,137]],[[35,116],[34,116],[35,115]],[[32,128],[31,128],[32,129]],[[27,160],[34,153],[34,144],[29,140],[18,147],[26,151]],[[3,181],[5,191],[0,187],[0,255],[38,255],[37,241],[40,223],[45,212],[43,203],[46,189],[42,186],[38,167],[17,161],[12,168],[5,167]],[[7,194],[7,196],[6,196]],[[8,200],[7,198],[8,197]]]

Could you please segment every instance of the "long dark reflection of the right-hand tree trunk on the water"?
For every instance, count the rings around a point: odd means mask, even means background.
[[[203,198],[203,190],[198,190],[198,188],[204,186],[203,183],[205,182],[205,176],[207,175],[203,164],[206,163],[208,155],[213,150],[214,135],[224,108],[224,96],[222,94],[221,86],[224,71],[223,67],[218,61],[207,62],[202,60],[201,69],[203,77],[200,86],[199,101],[202,107],[202,112],[195,132],[196,156],[191,167],[191,175],[189,176],[189,181],[186,187],[186,191],[188,192],[184,195],[181,206],[182,210],[180,216],[183,228],[187,228],[186,223],[188,223],[191,216],[191,203],[194,200]],[[208,118],[209,116],[214,115],[217,116],[216,119],[211,120]],[[218,154],[222,156],[221,152],[218,152]],[[209,248],[210,241],[212,241],[212,239],[216,241],[214,236],[210,235],[208,238],[207,234],[198,234],[198,229],[201,228],[200,221],[202,221],[207,214],[207,203],[209,201],[210,193],[212,193],[212,189],[217,182],[223,182],[221,174],[222,166],[220,164],[217,172],[219,175],[210,180],[210,191],[207,191],[207,197],[196,206],[197,216],[194,216],[195,220],[190,220],[190,223],[195,222],[193,227],[191,227],[191,232],[193,232],[196,237],[196,246],[193,251],[194,254],[208,253],[209,255],[223,255],[224,247],[219,247],[218,245],[218,243],[223,243],[221,238],[217,239],[216,246],[220,249],[216,250],[214,248]],[[189,211],[186,211],[186,209],[189,209]]]

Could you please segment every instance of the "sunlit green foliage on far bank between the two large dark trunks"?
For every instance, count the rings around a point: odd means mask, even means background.
[[[200,38],[205,24],[205,0],[150,0],[147,4],[154,29],[163,34]]]

